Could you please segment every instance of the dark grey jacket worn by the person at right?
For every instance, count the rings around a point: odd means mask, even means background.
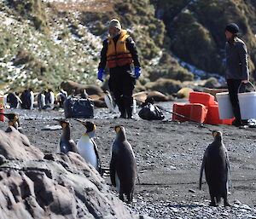
[[[247,46],[236,37],[234,43],[226,42],[226,79],[249,80]]]

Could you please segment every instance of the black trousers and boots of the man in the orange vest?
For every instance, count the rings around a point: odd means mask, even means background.
[[[132,91],[135,85],[135,78],[131,77],[131,67],[129,65],[114,67],[110,68],[109,72],[109,89],[113,92],[121,117],[131,118]]]

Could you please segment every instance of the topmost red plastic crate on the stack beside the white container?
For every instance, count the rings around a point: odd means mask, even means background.
[[[214,105],[216,101],[214,101],[214,95],[193,91],[189,93],[189,102],[201,103],[205,106],[211,106]]]

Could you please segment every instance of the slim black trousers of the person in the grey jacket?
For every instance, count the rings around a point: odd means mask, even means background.
[[[241,113],[240,113],[240,107],[239,107],[239,101],[238,101],[238,92],[245,91],[245,84],[241,84],[241,80],[237,80],[237,79],[228,79],[227,84],[228,84],[228,89],[230,94],[230,101],[232,104],[234,116],[236,118],[236,124],[241,124]],[[241,88],[238,91],[240,84],[241,84]]]

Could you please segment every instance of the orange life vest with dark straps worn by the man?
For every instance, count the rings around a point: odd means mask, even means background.
[[[125,40],[130,35],[122,31],[116,45],[111,37],[108,37],[107,66],[125,66],[133,62],[131,52],[126,48]]]

